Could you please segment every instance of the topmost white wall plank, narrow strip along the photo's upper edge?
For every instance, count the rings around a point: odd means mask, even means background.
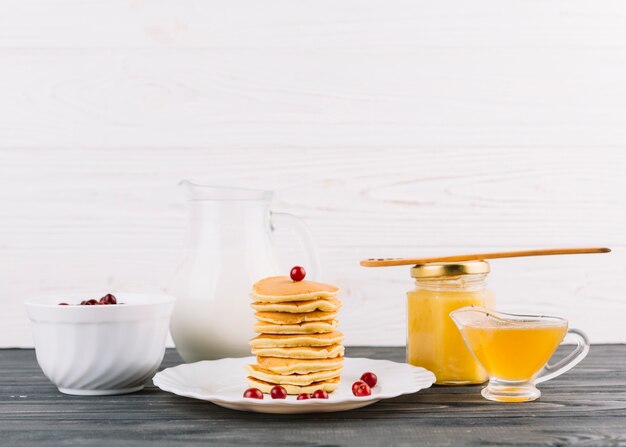
[[[3,2],[8,48],[596,48],[623,45],[619,0]],[[115,26],[112,26],[115,24]]]

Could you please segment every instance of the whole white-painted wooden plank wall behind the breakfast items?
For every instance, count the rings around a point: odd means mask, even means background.
[[[626,3],[0,3],[0,346],[29,296],[164,287],[183,178],[305,218],[349,344],[404,343],[361,258],[587,244],[497,300],[626,342]]]

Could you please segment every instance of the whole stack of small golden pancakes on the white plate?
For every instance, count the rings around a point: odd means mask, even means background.
[[[287,276],[252,286],[258,336],[250,340],[255,365],[246,365],[248,383],[264,393],[280,385],[288,394],[332,392],[343,369],[343,334],[335,330],[339,289]]]

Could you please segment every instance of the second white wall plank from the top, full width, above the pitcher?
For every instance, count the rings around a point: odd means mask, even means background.
[[[0,64],[0,148],[626,141],[615,48],[0,49]]]

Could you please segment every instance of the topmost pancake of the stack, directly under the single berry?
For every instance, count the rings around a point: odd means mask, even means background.
[[[252,285],[255,301],[281,303],[285,301],[307,301],[315,298],[331,298],[339,288],[314,281],[292,281],[288,276],[270,276]]]

